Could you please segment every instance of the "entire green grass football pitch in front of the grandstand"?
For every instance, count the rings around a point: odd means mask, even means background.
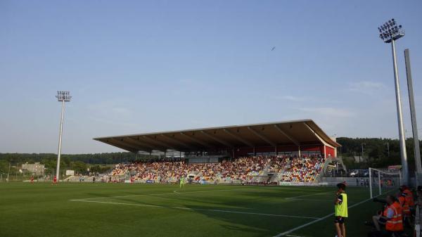
[[[380,205],[348,188],[347,236]],[[332,237],[335,187],[160,184],[0,184],[0,236]],[[321,217],[325,219],[319,220]]]

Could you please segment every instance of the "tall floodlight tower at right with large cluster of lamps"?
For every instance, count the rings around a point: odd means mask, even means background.
[[[401,37],[404,37],[404,30],[402,29],[402,25],[397,25],[394,19],[388,20],[388,22],[378,27],[378,30],[380,32],[380,38],[387,44],[391,43],[392,68],[395,79],[395,93],[397,104],[397,122],[399,124],[400,156],[402,158],[403,182],[404,184],[407,184],[409,181],[409,167],[407,167],[407,153],[406,143],[404,140],[404,125],[402,114],[402,97],[400,96],[399,75],[397,72],[397,60],[395,53],[395,41],[397,39],[400,39]]]

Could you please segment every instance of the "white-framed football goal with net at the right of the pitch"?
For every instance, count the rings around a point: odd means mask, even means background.
[[[402,183],[400,172],[369,168],[369,193],[371,198],[397,190]]]

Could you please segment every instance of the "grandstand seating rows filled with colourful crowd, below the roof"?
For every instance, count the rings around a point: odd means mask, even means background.
[[[217,163],[187,164],[184,160],[155,160],[119,164],[110,172],[112,180],[134,177],[134,181],[177,182],[180,177],[192,181],[218,183],[315,182],[325,159],[321,157],[250,156]],[[273,174],[269,177],[268,174]]]

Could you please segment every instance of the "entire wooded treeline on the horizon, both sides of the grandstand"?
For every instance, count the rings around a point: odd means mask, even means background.
[[[342,157],[347,169],[365,169],[368,167],[387,167],[388,165],[400,165],[400,146],[397,139],[381,138],[347,138],[339,137],[338,143],[342,145],[338,148],[338,156]],[[419,142],[421,145],[421,141]],[[364,157],[362,156],[362,145]],[[414,143],[412,139],[406,140],[407,158],[409,169],[414,170]],[[78,173],[102,172],[110,169],[111,165],[122,162],[133,162],[134,160],[148,160],[149,155],[135,155],[134,153],[96,153],[96,154],[63,154],[60,160],[60,167],[63,169],[74,169]],[[156,158],[153,156],[153,158]],[[48,170],[56,168],[57,155],[53,153],[0,153],[0,172],[8,172],[11,164],[11,173],[18,172],[15,167],[25,162],[41,162]],[[358,161],[357,161],[358,160]]]

